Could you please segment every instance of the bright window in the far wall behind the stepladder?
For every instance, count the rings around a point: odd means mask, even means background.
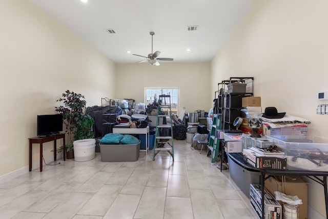
[[[156,94],[156,95],[155,95]],[[171,111],[174,114],[179,112],[179,88],[145,88],[145,104],[146,106],[154,103],[154,97],[157,101],[159,95],[171,95]]]

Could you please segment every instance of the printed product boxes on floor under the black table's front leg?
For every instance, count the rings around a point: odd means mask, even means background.
[[[251,205],[260,218],[262,218],[261,193],[261,185],[250,185]],[[264,188],[264,219],[281,219],[281,214],[281,205],[275,200],[275,198],[270,194],[270,192]]]

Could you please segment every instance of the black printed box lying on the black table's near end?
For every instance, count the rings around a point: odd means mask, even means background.
[[[250,149],[243,149],[244,160],[255,168],[286,170],[287,158],[283,155],[258,154]]]

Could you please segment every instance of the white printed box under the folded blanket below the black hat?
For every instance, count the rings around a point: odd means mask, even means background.
[[[293,139],[308,138],[308,127],[292,126],[282,128],[271,128],[263,125],[262,131],[264,135],[286,135]]]

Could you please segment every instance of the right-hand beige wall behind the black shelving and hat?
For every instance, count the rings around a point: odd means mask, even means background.
[[[317,115],[328,90],[328,1],[257,0],[212,62],[212,91],[231,76],[253,76],[262,108],[310,120],[310,135],[328,137]],[[310,181],[309,206],[325,216],[323,189]]]

